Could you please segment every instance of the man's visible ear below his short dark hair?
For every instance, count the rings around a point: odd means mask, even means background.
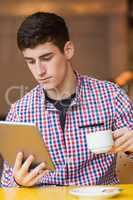
[[[64,46],[64,55],[66,59],[70,60],[74,55],[74,44],[71,41],[67,41]]]

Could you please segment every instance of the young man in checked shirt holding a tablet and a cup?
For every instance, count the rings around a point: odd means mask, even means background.
[[[118,183],[116,153],[133,152],[133,107],[126,94],[113,83],[73,70],[74,45],[60,16],[38,12],[27,17],[17,42],[39,84],[12,105],[7,121],[36,123],[56,171],[45,169],[45,163],[30,171],[34,157],[22,164],[19,152],[14,169],[4,163],[1,185]],[[107,129],[113,131],[114,148],[110,153],[92,153],[87,136]]]

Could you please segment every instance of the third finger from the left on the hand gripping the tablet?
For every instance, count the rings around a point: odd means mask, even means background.
[[[34,177],[36,177],[38,174],[41,174],[41,172],[44,172],[45,170],[45,163],[39,164],[36,168],[34,168],[26,177],[26,181],[31,181]],[[46,170],[45,170],[46,171]]]

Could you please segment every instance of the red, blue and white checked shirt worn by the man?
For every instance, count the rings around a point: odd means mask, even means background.
[[[125,126],[133,130],[132,106],[117,85],[77,73],[76,96],[66,114],[64,133],[59,111],[50,102],[45,102],[40,85],[12,105],[7,121],[32,122],[38,126],[56,167],[55,172],[49,172],[39,183],[115,184],[119,182],[115,171],[116,155],[90,152],[86,137],[98,130],[114,131]],[[6,162],[1,186],[16,186],[12,168]]]

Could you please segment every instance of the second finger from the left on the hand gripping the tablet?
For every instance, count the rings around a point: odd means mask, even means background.
[[[31,163],[33,162],[34,160],[34,156],[33,155],[30,155],[26,160],[25,162],[23,163],[22,167],[20,168],[20,175],[21,176],[24,176],[25,174],[28,173],[28,170],[29,170],[29,167],[31,165]]]

